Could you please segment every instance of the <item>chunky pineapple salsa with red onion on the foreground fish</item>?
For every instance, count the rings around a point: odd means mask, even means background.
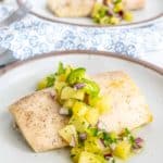
[[[121,135],[98,126],[99,116],[110,112],[110,97],[100,95],[100,87],[86,75],[84,67],[60,63],[58,72],[39,82],[37,89],[54,87],[60,114],[70,116],[59,134],[68,143],[74,163],[114,163],[126,160],[142,148],[143,140],[124,128]]]

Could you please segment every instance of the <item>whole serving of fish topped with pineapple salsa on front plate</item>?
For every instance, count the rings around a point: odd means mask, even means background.
[[[89,77],[84,67],[60,63],[37,89],[10,106],[36,152],[70,146],[74,162],[105,163],[142,148],[143,140],[131,130],[150,123],[152,114],[124,72]]]

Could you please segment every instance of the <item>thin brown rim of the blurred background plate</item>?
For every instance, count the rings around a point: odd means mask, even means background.
[[[16,2],[18,4],[18,7],[21,7],[23,4],[23,0],[16,0]],[[33,11],[30,11],[30,14],[33,14],[33,15],[39,17],[39,18],[43,18],[46,21],[53,22],[53,23],[60,23],[60,24],[73,25],[73,26],[80,26],[80,27],[108,27],[108,28],[116,28],[116,27],[123,27],[123,26],[134,27],[135,25],[141,25],[141,24],[142,24],[142,26],[146,26],[146,23],[152,22],[152,21],[163,16],[163,13],[161,13],[161,14],[154,16],[154,17],[151,17],[151,18],[148,18],[148,20],[145,20],[145,21],[140,21],[140,22],[120,24],[120,25],[115,25],[115,26],[108,26],[108,25],[84,25],[84,24],[68,23],[68,22],[64,22],[64,21],[57,21],[57,20],[53,20],[53,18],[48,18],[46,16],[39,15],[39,14],[33,12]]]

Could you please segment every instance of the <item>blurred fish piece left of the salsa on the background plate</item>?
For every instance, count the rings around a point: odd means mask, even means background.
[[[48,0],[47,7],[60,17],[88,16],[95,0]]]

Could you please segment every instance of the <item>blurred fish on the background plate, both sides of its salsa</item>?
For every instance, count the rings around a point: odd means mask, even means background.
[[[48,9],[60,17],[85,17],[90,15],[95,2],[103,0],[48,0]],[[123,0],[128,10],[142,9],[146,0]]]

